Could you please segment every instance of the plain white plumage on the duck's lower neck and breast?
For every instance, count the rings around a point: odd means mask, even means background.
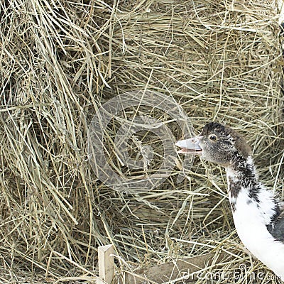
[[[284,244],[276,241],[266,228],[274,213],[271,193],[258,195],[260,204],[251,200],[246,188],[241,188],[236,198],[234,224],[239,238],[251,253],[284,280]]]

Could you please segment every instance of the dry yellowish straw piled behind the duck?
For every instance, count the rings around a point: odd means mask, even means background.
[[[114,244],[117,273],[213,252],[230,261],[205,272],[245,264],[239,283],[252,272],[273,275],[236,236],[222,169],[195,159],[178,183],[178,160],[163,185],[129,194],[97,178],[87,147],[99,107],[149,89],[173,97],[197,131],[212,119],[241,129],[263,182],[283,198],[283,60],[271,2],[1,1],[2,283],[93,283],[102,244]],[[181,138],[163,110],[136,106],[118,116],[138,113]],[[123,122],[112,122],[104,151],[124,173],[111,151]],[[153,159],[129,175],[155,172],[160,141],[145,129],[137,139]]]

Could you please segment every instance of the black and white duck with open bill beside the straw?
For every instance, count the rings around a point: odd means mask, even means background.
[[[227,192],[239,239],[284,281],[284,206],[258,178],[245,138],[229,126],[205,124],[200,135],[175,144],[226,170]]]

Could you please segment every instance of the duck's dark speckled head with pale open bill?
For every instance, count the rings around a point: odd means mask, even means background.
[[[239,133],[216,122],[206,124],[200,136],[178,141],[175,145],[181,148],[178,153],[200,155],[224,167],[241,163],[251,155],[251,148]]]

